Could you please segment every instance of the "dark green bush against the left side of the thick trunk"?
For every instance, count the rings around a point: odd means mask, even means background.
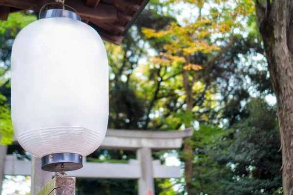
[[[247,107],[250,116],[235,124],[233,142],[209,152],[219,165],[231,169],[232,179],[221,181],[223,192],[229,192],[223,194],[281,194],[282,155],[275,108],[262,99],[252,99]]]

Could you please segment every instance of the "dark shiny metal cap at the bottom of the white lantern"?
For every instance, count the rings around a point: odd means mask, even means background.
[[[42,170],[50,172],[74,171],[83,167],[83,156],[75,153],[56,153],[42,157]]]

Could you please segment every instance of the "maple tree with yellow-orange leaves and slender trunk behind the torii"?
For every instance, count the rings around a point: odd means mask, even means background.
[[[153,58],[154,64],[179,67],[183,78],[186,114],[194,109],[194,84],[209,77],[214,63],[233,44],[253,16],[254,3],[250,0],[168,0],[167,3],[186,3],[198,8],[198,15],[189,19],[171,22],[163,30],[145,28],[149,39],[159,39],[165,44]],[[205,59],[198,58],[204,55]],[[192,117],[191,117],[192,118]],[[191,126],[191,121],[185,124]],[[184,140],[185,180],[188,194],[192,194],[192,146],[191,138]]]

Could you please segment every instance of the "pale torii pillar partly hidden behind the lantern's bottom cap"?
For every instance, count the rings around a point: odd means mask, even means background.
[[[42,161],[40,158],[32,156],[31,167],[31,195],[38,192],[52,179],[52,173],[41,169]]]

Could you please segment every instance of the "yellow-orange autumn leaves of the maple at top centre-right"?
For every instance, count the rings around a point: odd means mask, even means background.
[[[166,42],[154,63],[164,66],[180,63],[183,69],[194,71],[202,66],[190,63],[186,57],[196,53],[217,55],[229,43],[234,30],[241,32],[245,28],[243,20],[255,8],[251,0],[167,0],[167,4],[174,2],[197,6],[197,18],[171,22],[161,30],[145,28],[143,33],[147,38]]]

